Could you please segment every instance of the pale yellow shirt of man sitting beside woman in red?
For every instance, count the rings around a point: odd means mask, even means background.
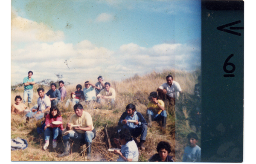
[[[69,123],[73,125],[81,125],[80,127],[88,127],[89,125],[92,125],[92,130],[94,129],[93,118],[90,115],[90,113],[85,111],[83,111],[83,114],[81,115],[81,117],[78,117],[76,114],[73,114],[70,118]],[[82,134],[85,133],[85,131],[83,130],[76,130],[76,131]]]

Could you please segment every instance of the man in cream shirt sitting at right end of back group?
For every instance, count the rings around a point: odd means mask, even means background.
[[[115,103],[116,100],[116,91],[115,89],[110,87],[110,83],[105,83],[105,89],[102,89],[102,91],[99,92],[97,95],[97,103],[101,103],[102,100],[110,101],[111,105]]]

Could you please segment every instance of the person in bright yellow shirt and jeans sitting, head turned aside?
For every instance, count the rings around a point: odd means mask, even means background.
[[[159,100],[157,92],[151,92],[148,97],[149,103],[147,106],[148,126],[151,126],[151,121],[162,121],[162,127],[166,127],[167,113],[164,109],[164,102]]]

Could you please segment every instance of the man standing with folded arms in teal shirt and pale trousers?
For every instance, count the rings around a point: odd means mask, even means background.
[[[26,103],[26,99],[28,98],[28,107],[30,107],[30,104],[32,102],[33,98],[33,85],[35,84],[35,81],[31,76],[33,75],[32,71],[29,71],[29,75],[23,79],[24,84],[24,94],[23,94],[23,103]]]

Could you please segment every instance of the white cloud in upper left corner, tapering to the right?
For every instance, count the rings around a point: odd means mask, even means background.
[[[64,39],[62,31],[53,31],[44,23],[19,17],[13,9],[11,15],[12,42],[55,42]]]

